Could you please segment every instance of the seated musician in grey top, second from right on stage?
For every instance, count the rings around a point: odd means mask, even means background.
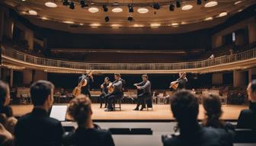
[[[136,86],[138,90],[142,90],[142,94],[138,95],[137,106],[133,110],[143,110],[144,108],[146,108],[145,99],[151,98],[151,83],[148,78],[148,75],[142,75],[142,82],[134,84],[134,86]],[[142,105],[141,109],[139,109],[140,105]]]

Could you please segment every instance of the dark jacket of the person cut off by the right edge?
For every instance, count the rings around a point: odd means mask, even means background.
[[[250,103],[249,109],[243,109],[238,117],[238,129],[256,130],[256,103]]]

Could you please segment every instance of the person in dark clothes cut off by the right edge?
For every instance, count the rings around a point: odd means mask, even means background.
[[[238,116],[238,129],[256,130],[256,80],[251,81],[247,87],[249,109],[243,109]]]

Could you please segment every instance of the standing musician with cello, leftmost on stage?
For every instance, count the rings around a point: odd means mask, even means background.
[[[91,98],[91,94],[90,94],[89,90],[90,90],[91,83],[94,82],[94,79],[93,79],[93,76],[92,76],[92,71],[89,71],[87,75],[82,74],[82,76],[78,78],[78,84],[82,80],[86,80],[87,84],[85,84],[85,86],[81,87],[81,94],[85,94],[86,96]]]

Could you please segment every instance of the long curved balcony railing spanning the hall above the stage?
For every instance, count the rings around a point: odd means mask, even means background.
[[[246,59],[256,58],[256,48],[229,56],[220,56],[215,59],[206,59],[197,62],[179,63],[89,63],[89,62],[70,62],[57,59],[45,59],[31,56],[24,52],[19,52],[9,47],[2,47],[2,55],[18,59],[36,65],[44,65],[56,68],[74,68],[84,70],[181,70],[194,68],[207,68],[214,65],[238,62]]]

